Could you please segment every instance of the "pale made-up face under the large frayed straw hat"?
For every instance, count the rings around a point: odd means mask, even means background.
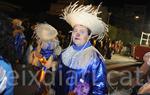
[[[72,32],[72,40],[77,46],[84,45],[88,40],[88,28],[83,25],[75,25]]]

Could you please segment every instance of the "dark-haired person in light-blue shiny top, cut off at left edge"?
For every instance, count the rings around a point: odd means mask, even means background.
[[[6,33],[6,32],[5,32]],[[0,32],[0,95],[14,95],[12,65],[16,61],[15,48],[10,43],[12,36]]]

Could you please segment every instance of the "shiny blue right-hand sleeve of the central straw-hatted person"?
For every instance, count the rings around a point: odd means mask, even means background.
[[[107,94],[107,74],[105,63],[100,58],[94,59],[92,65],[93,72],[93,88],[92,95],[106,95]]]

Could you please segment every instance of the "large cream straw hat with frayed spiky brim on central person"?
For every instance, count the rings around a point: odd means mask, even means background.
[[[98,36],[97,39],[102,39],[105,32],[108,30],[107,25],[102,21],[97,15],[99,12],[99,7],[94,8],[92,5],[80,5],[78,6],[78,1],[74,4],[70,4],[63,10],[61,15],[67,23],[72,27],[77,24],[86,26],[91,30],[93,36]]]

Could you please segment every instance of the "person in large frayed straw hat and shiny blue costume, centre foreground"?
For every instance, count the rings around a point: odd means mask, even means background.
[[[103,56],[91,45],[90,39],[101,40],[107,25],[97,15],[92,5],[70,4],[63,10],[62,18],[73,31],[71,44],[60,55],[56,72],[56,95],[106,95],[107,78]]]

